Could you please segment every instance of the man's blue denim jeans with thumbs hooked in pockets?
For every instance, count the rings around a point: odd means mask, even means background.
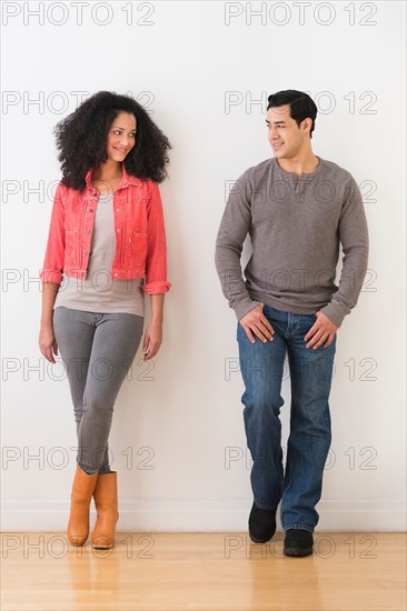
[[[331,432],[328,397],[331,387],[336,335],[329,348],[306,348],[304,337],[316,314],[294,314],[265,306],[275,330],[274,341],[251,343],[238,323],[240,370],[245,382],[241,401],[247,444],[254,461],[251,489],[260,509],[275,509],[281,500],[284,531],[314,531],[315,505],[321,497],[324,467]],[[282,468],[280,408],[286,352],[291,385],[290,433],[286,470]]]

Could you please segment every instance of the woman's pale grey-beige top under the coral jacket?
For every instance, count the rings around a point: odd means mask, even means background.
[[[142,278],[113,280],[110,276],[116,250],[112,198],[112,194],[99,196],[87,278],[64,276],[53,308],[145,315]]]

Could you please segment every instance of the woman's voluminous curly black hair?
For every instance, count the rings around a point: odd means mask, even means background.
[[[53,129],[60,151],[58,160],[61,162],[62,184],[82,191],[89,169],[107,161],[107,137],[120,112],[132,113],[137,121],[136,146],[123,161],[126,171],[141,180],[151,179],[155,182],[167,178],[167,151],[171,149],[168,138],[132,98],[99,91]]]

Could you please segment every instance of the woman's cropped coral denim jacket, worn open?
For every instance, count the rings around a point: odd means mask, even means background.
[[[48,244],[41,282],[62,282],[62,272],[85,279],[89,263],[95,214],[99,193],[91,184],[90,169],[86,189],[80,192],[59,182],[53,200]],[[113,191],[116,253],[111,268],[113,280],[143,278],[146,293],[165,293],[167,247],[162,204],[158,184],[128,174]]]

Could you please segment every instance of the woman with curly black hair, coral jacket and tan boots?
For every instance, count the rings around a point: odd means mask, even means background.
[[[40,273],[39,344],[52,363],[60,350],[73,402],[78,455],[68,539],[87,541],[93,497],[92,547],[109,549],[119,518],[108,449],[113,405],[140,343],[143,296],[151,300],[148,360],[161,345],[171,286],[158,189],[170,143],[140,104],[109,91],[89,98],[54,133],[63,178]]]

